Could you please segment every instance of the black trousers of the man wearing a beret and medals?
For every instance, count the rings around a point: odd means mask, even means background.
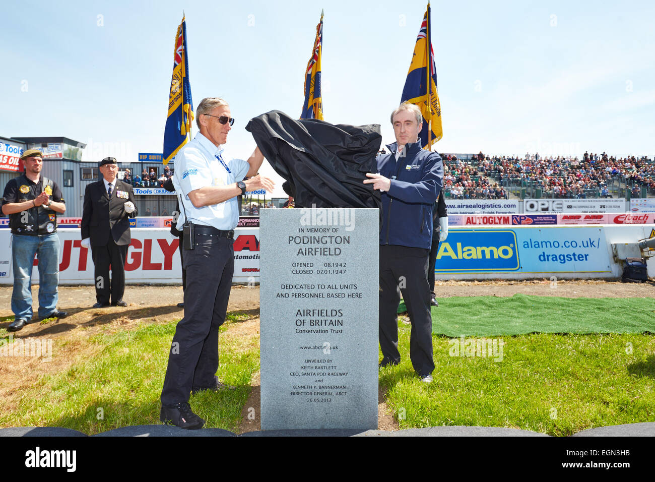
[[[104,246],[91,246],[94,264],[94,282],[96,283],[96,301],[98,303],[116,304],[122,300],[125,292],[125,258],[128,245],[119,246],[111,233]],[[111,283],[109,267],[111,266]]]

